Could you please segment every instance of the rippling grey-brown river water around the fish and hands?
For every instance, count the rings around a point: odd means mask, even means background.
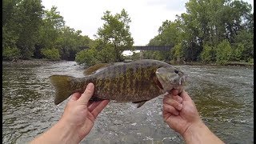
[[[177,66],[188,74],[186,91],[206,126],[226,143],[254,143],[254,69],[238,66]],[[82,77],[76,62],[3,66],[2,141],[25,143],[61,117],[48,77]],[[142,107],[110,102],[81,143],[184,143],[162,120],[162,98]]]

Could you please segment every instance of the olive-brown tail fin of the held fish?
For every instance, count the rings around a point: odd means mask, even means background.
[[[56,93],[54,98],[54,104],[58,105],[59,103],[69,98],[71,94],[74,93],[71,87],[71,80],[74,77],[67,75],[52,75],[50,76],[50,82],[54,86]]]

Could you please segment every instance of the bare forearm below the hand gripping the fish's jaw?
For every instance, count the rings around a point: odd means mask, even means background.
[[[198,124],[190,126],[183,134],[183,138],[187,144],[224,143],[215,134],[213,134],[203,122],[198,122]]]

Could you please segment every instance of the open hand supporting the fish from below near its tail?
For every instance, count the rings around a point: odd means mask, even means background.
[[[78,142],[82,141],[89,134],[98,114],[110,102],[109,100],[89,102],[93,94],[93,83],[89,83],[86,86],[86,90],[82,95],[79,93],[73,94],[70,101],[66,104],[60,119],[62,125],[76,133],[74,139],[78,140]]]

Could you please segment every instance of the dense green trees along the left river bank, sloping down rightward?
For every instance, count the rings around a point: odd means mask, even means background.
[[[92,40],[65,25],[57,7],[44,10],[41,0],[3,0],[2,57],[74,60]]]

